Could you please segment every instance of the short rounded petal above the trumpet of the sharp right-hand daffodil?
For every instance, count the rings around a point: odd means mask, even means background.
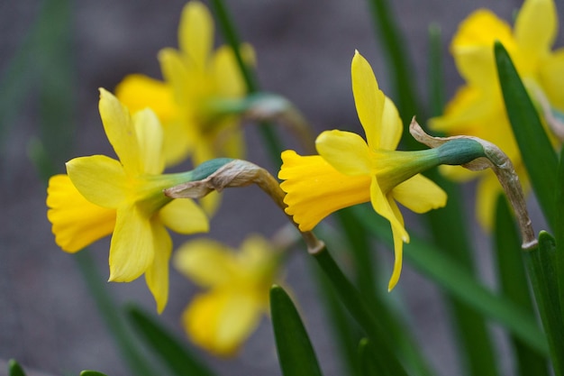
[[[315,140],[315,147],[319,155],[342,174],[370,174],[370,151],[357,133],[325,131]]]

